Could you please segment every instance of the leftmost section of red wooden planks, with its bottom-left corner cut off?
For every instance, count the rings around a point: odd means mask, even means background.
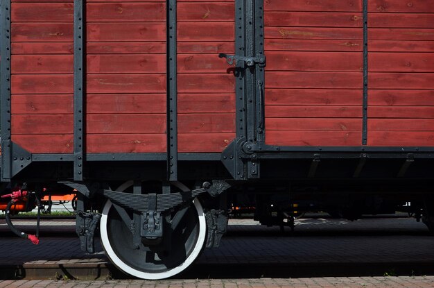
[[[12,141],[72,153],[73,3],[34,2],[11,4]]]

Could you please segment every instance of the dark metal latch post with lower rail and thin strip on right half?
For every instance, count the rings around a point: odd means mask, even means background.
[[[261,58],[263,55],[263,0],[236,1],[236,56]],[[434,147],[367,145],[368,101],[367,0],[363,0],[363,130],[361,146],[273,146],[265,144],[263,65],[238,68],[236,81],[236,139],[222,153],[225,167],[236,180],[260,178],[261,159],[320,158],[433,158]],[[409,165],[409,164],[407,164]],[[359,167],[363,169],[363,166]],[[358,171],[360,173],[360,171]]]

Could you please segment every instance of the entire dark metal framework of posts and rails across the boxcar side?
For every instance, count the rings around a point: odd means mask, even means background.
[[[265,55],[263,43],[263,0],[241,0],[235,3],[236,65],[236,139],[223,153],[177,152],[177,15],[176,1],[167,0],[167,153],[85,153],[85,0],[74,0],[74,153],[31,154],[10,141],[10,0],[0,6],[0,103],[1,103],[1,180],[8,181],[35,164],[73,164],[75,181],[85,180],[83,165],[107,166],[108,162],[166,163],[166,179],[177,180],[178,165],[222,162],[235,180],[261,178],[261,160],[311,161],[309,175],[315,176],[320,160],[359,159],[354,177],[358,177],[368,159],[402,159],[399,176],[410,164],[420,159],[433,159],[434,147],[372,147],[367,140],[367,0],[363,0],[363,143],[361,146],[271,146],[265,144]],[[227,56],[228,57],[228,56]],[[249,64],[248,61],[250,62]],[[247,64],[247,65],[246,65]],[[114,164],[116,166],[116,164]],[[81,172],[81,173],[80,173]],[[114,172],[115,173],[115,172]],[[192,172],[193,173],[193,172]],[[62,175],[64,175],[62,174]],[[182,173],[185,176],[188,173]],[[139,174],[138,174],[139,175]],[[51,179],[53,180],[53,179]]]

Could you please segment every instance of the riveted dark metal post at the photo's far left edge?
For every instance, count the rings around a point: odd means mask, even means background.
[[[0,128],[1,128],[1,180],[11,178],[11,142],[10,142],[10,0],[0,2]]]

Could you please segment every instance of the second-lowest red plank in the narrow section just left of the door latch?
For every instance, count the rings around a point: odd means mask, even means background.
[[[234,113],[180,114],[178,133],[235,133]]]

